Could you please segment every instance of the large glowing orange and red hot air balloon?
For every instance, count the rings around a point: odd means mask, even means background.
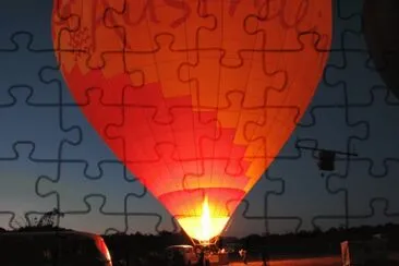
[[[217,238],[312,100],[329,0],[55,1],[84,116],[202,243]]]

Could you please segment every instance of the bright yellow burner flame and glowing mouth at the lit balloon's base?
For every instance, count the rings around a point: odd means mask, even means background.
[[[201,242],[208,242],[223,231],[229,219],[228,216],[214,217],[209,208],[208,197],[205,196],[201,217],[184,217],[179,218],[178,221],[191,238]]]

